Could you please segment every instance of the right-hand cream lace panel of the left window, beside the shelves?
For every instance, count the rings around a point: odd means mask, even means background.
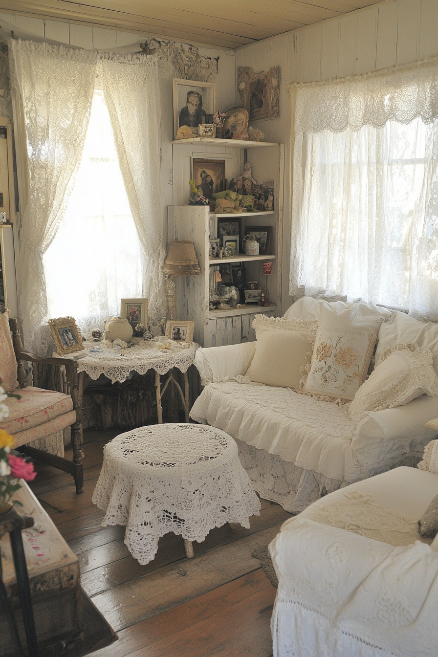
[[[139,240],[148,260],[144,296],[164,315],[165,260],[160,179],[160,90],[158,61],[144,55],[109,55],[99,62],[123,181]]]

